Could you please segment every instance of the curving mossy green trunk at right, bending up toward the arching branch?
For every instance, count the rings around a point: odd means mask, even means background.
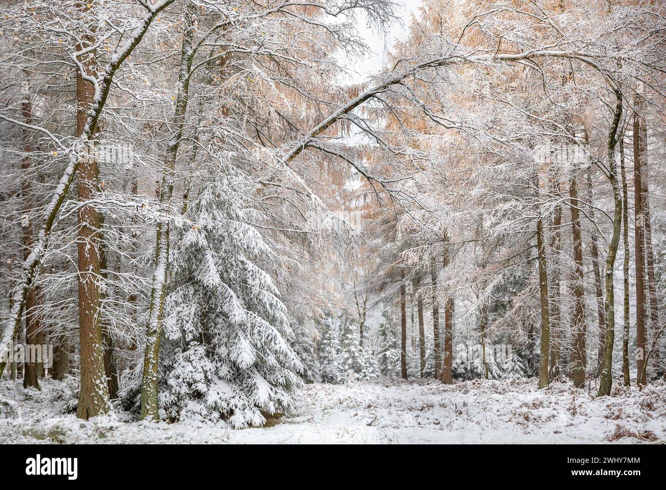
[[[617,246],[620,241],[620,230],[622,227],[622,197],[620,195],[619,185],[617,183],[617,163],[615,162],[615,146],[617,145],[617,129],[622,117],[622,93],[615,89],[617,103],[615,105],[615,116],[611,123],[611,130],[608,133],[607,142],[607,161],[608,178],[613,187],[613,235],[608,244],[608,253],[606,255],[606,339],[603,349],[603,363],[601,365],[601,381],[599,382],[599,396],[611,394],[613,386],[613,343],[615,342],[615,288],[613,284],[613,271],[615,269],[615,257],[617,256]]]

